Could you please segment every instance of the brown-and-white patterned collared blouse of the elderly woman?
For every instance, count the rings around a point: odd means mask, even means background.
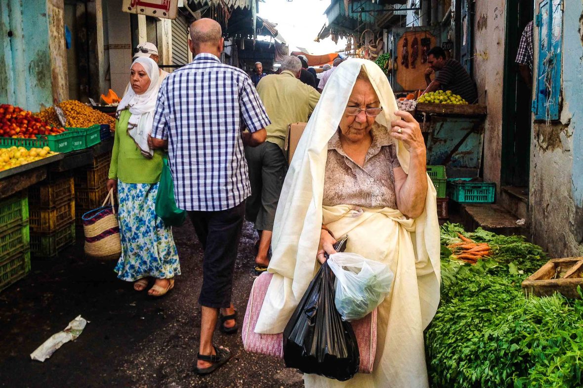
[[[328,142],[322,205],[354,205],[396,209],[393,169],[400,167],[394,140],[387,127],[374,123],[373,143],[364,166],[359,166],[342,149],[338,131]]]

